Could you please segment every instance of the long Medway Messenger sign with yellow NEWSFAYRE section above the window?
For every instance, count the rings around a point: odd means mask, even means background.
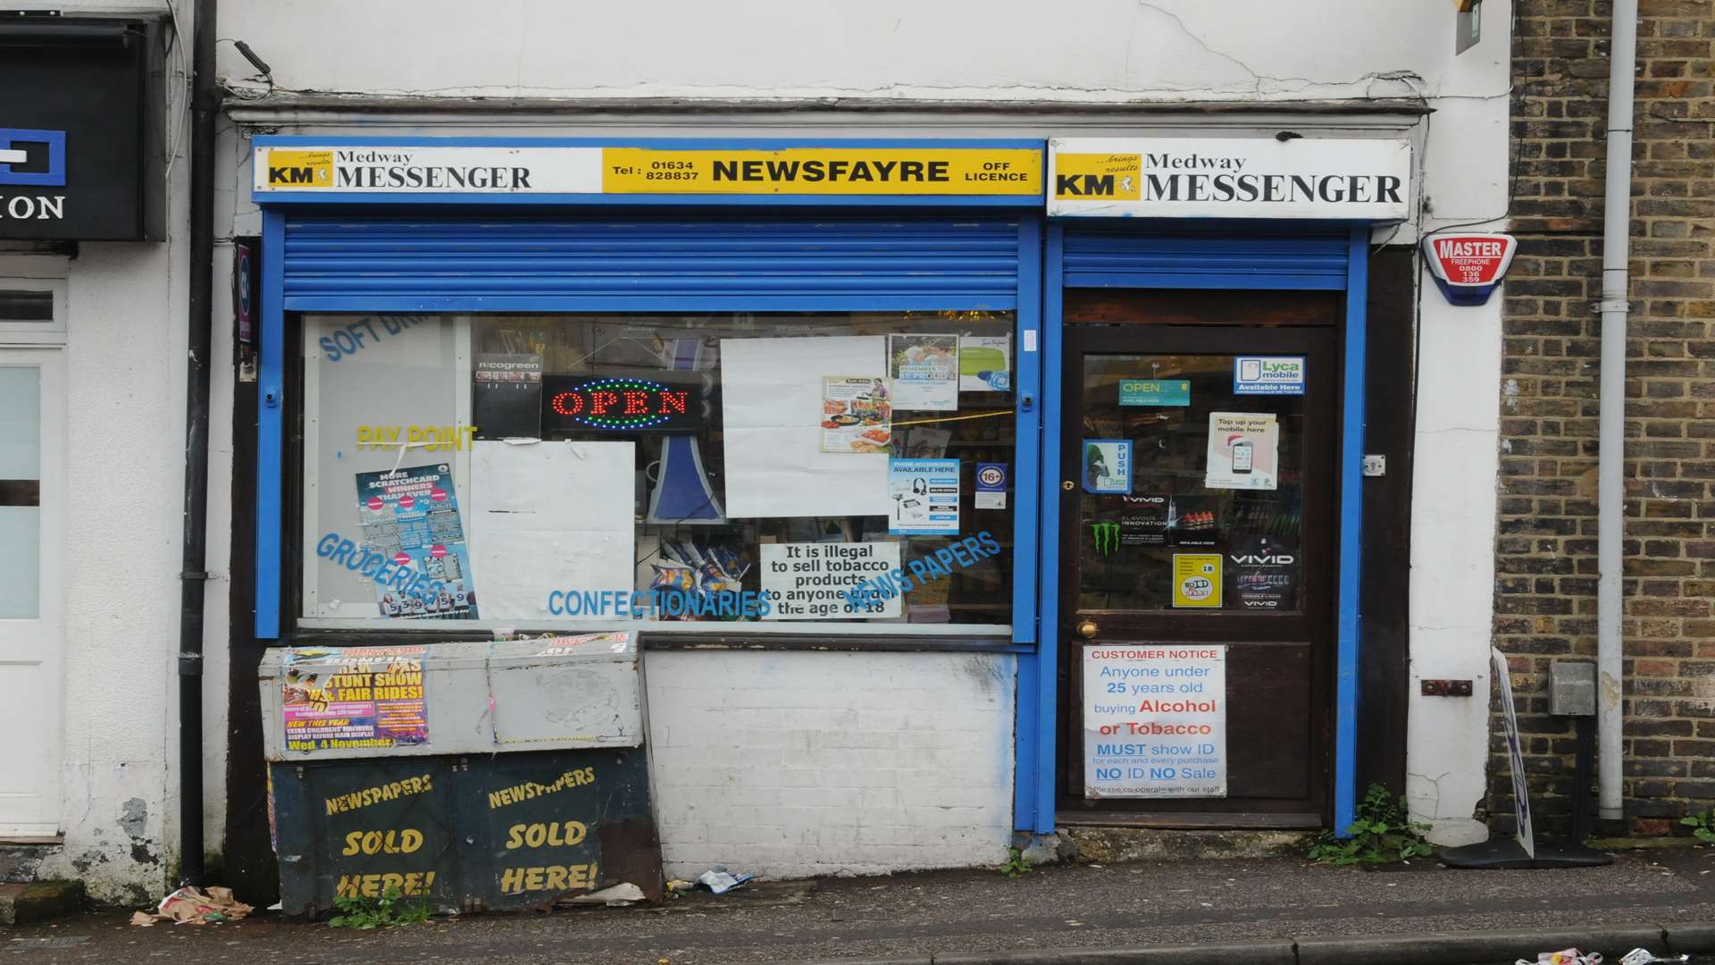
[[[256,194],[1039,196],[1036,148],[259,146]]]

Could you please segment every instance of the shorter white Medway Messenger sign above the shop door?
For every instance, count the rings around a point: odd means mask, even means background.
[[[1372,137],[1055,137],[1048,213],[1134,218],[1410,216],[1411,144]]]

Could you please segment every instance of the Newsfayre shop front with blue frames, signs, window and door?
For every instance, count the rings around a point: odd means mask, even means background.
[[[257,137],[256,639],[638,630],[669,874],[1345,826],[1411,153],[1225,148]]]

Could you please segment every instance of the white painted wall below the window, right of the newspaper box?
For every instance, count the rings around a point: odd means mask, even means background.
[[[1005,860],[1012,656],[650,651],[645,675],[669,876]]]

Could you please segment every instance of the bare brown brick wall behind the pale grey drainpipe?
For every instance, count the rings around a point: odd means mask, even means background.
[[[1715,0],[1641,0],[1626,378],[1626,810],[1634,835],[1715,805]],[[1538,828],[1564,828],[1547,666],[1595,656],[1597,378],[1609,14],[1519,0],[1501,398],[1495,642]],[[1494,810],[1511,810],[1499,740]],[[1497,824],[1509,824],[1499,816]]]

